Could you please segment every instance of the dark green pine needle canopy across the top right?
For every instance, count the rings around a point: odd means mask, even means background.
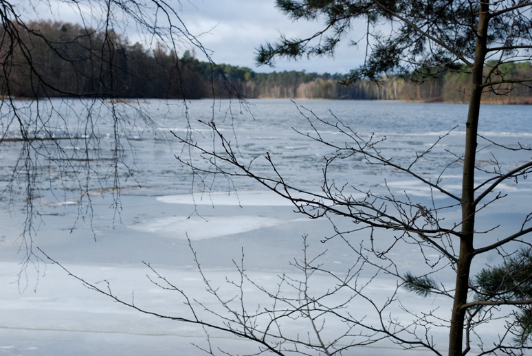
[[[464,65],[479,65],[476,51],[482,38],[482,63],[491,60],[489,74],[504,75],[503,63],[531,58],[529,5],[528,1],[278,0],[277,7],[289,18],[320,20],[324,27],[307,37],[282,36],[276,43],[261,45],[256,60],[273,65],[276,57],[334,54],[345,39],[367,46],[364,64],[351,71],[347,82],[412,71],[425,78],[434,67],[463,71]],[[351,34],[353,21],[365,21],[366,33]],[[352,38],[346,39],[350,34]]]

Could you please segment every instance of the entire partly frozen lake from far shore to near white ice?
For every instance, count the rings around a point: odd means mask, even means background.
[[[454,194],[460,193],[461,165],[449,163],[454,155],[462,154],[467,106],[462,104],[417,104],[404,102],[357,102],[304,100],[294,104],[290,100],[251,100],[249,106],[239,102],[199,100],[188,103],[188,109],[179,102],[152,100],[140,102],[140,113],[153,120],[146,128],[138,111],[127,104],[119,104],[121,114],[130,118],[126,132],[120,136],[120,159],[124,163],[117,172],[120,180],[119,205],[115,205],[113,170],[107,166],[116,153],[113,150],[113,122],[105,108],[100,109],[98,131],[89,133],[77,124],[87,115],[88,102],[64,103],[52,101],[50,120],[56,120],[56,137],[70,137],[63,151],[71,157],[83,156],[87,137],[98,137],[99,147],[93,147],[100,159],[91,161],[93,169],[107,180],[84,180],[76,176],[87,162],[79,159],[78,165],[62,164],[41,159],[37,172],[35,215],[32,230],[32,263],[21,272],[25,246],[20,234],[23,231],[27,208],[25,186],[15,181],[13,194],[3,194],[0,207],[0,355],[201,355],[198,348],[206,346],[206,334],[198,326],[152,315],[141,314],[113,302],[108,297],[88,289],[68,276],[57,265],[45,263],[37,249],[60,262],[73,274],[98,287],[109,282],[113,293],[135,305],[160,313],[183,315],[187,313],[183,300],[175,291],[165,291],[153,285],[146,275],[153,272],[144,265],[150,264],[166,276],[188,296],[196,298],[207,307],[217,309],[216,300],[205,290],[203,278],[197,271],[188,239],[197,252],[197,258],[208,280],[227,295],[239,290],[226,281],[238,280],[236,265],[245,265],[250,277],[266,289],[275,291],[279,276],[299,276],[291,265],[294,259],[303,258],[303,238],[307,236],[309,256],[320,256],[325,269],[338,276],[353,267],[352,252],[339,238],[322,243],[333,236],[331,222],[327,219],[311,220],[293,212],[293,207],[279,197],[265,191],[250,179],[214,179],[212,176],[192,176],[190,169],[175,158],[197,158],[186,153],[183,145],[170,134],[193,135],[193,140],[203,146],[212,145],[212,135],[198,120],[214,120],[217,129],[230,137],[239,153],[249,159],[257,157],[254,169],[270,174],[264,159],[268,152],[282,175],[293,185],[310,191],[320,190],[323,157],[334,153],[328,147],[316,145],[305,137],[311,132],[307,120],[296,108],[302,105],[305,115],[315,113],[320,118],[339,118],[364,137],[386,137],[381,153],[392,157],[398,164],[406,164],[416,153],[429,148],[438,137],[446,135],[439,146],[419,164],[425,177],[437,179],[441,175],[443,186]],[[307,111],[309,109],[310,111]],[[5,108],[3,118],[12,114]],[[36,108],[21,102],[21,110],[30,116]],[[52,113],[54,112],[54,113]],[[60,118],[54,116],[60,115]],[[503,166],[511,167],[527,162],[529,153],[512,153],[491,140],[505,146],[518,142],[530,145],[532,141],[532,113],[524,106],[485,106],[481,113],[480,131],[488,140],[480,140],[478,162],[487,170],[494,166],[494,157]],[[7,137],[16,137],[16,129],[2,121],[1,129]],[[453,129],[455,128],[455,129]],[[300,133],[297,133],[299,131]],[[320,131],[326,140],[342,140],[333,130]],[[72,138],[74,137],[74,138]],[[93,141],[89,140],[92,144]],[[0,183],[10,181],[11,172],[20,146],[16,142],[0,147]],[[41,147],[41,150],[46,147]],[[188,155],[188,156],[187,156]],[[447,168],[446,168],[447,167]],[[411,177],[367,164],[364,159],[346,159],[331,169],[337,184],[350,183],[355,188],[375,194],[408,194],[416,203],[430,205],[430,190]],[[71,170],[71,171],[69,171]],[[79,178],[80,177],[80,178]],[[203,179],[203,180],[201,180]],[[386,183],[385,183],[386,182]],[[85,186],[84,186],[85,184]],[[80,196],[80,187],[88,188],[89,197]],[[516,184],[508,181],[501,186],[505,199],[504,211],[487,209],[479,217],[480,226],[489,228],[500,224],[519,224],[529,213],[527,197],[532,196],[530,180]],[[236,188],[236,191],[235,191]],[[359,194],[352,190],[353,194]],[[518,194],[512,194],[518,192]],[[436,205],[445,205],[448,198],[434,194]],[[452,221],[459,216],[457,208],[445,211]],[[349,229],[351,221],[335,220],[337,226]],[[515,224],[514,224],[515,225]],[[486,234],[486,241],[494,241],[498,234],[511,230],[505,227]],[[385,238],[377,234],[377,237]],[[366,232],[353,234],[355,241],[368,241]],[[28,241],[28,240],[27,240]],[[423,271],[426,265],[412,245],[400,245],[393,250],[397,265],[405,271]],[[242,258],[242,256],[244,256]],[[43,258],[40,260],[39,258]],[[436,257],[435,257],[436,258]],[[496,263],[491,257],[476,262],[477,269],[485,263]],[[495,256],[494,256],[495,258]],[[372,276],[371,269],[359,273],[361,280]],[[439,275],[442,282],[452,276]],[[326,274],[313,276],[315,293],[334,285]],[[378,301],[397,286],[394,278],[379,276],[366,293]],[[250,309],[271,303],[253,285],[245,288],[245,300]],[[293,293],[288,290],[286,293]],[[340,293],[341,294],[341,293]],[[439,297],[419,298],[400,290],[401,302],[421,310],[434,310],[446,318],[450,301]],[[331,303],[340,303],[345,296],[334,296]],[[353,314],[364,315],[367,305],[356,298],[349,303]],[[390,309],[397,318],[408,319],[400,308]],[[204,315],[210,320],[212,315]],[[288,326],[289,333],[307,330],[309,325],[300,320]],[[491,326],[490,326],[491,327]],[[487,327],[485,337],[496,337]],[[439,351],[445,353],[446,329],[435,330],[432,337]],[[328,322],[324,335],[333,339],[342,333],[342,323]],[[252,353],[254,348],[241,338],[218,331],[210,331],[213,346],[233,353]],[[383,351],[384,350],[384,351]],[[399,346],[384,343],[364,348],[365,355],[395,354]],[[411,353],[413,351],[410,351]],[[425,354],[417,352],[416,355]]]

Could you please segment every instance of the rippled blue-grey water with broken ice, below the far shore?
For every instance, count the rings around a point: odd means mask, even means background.
[[[416,153],[422,153],[443,137],[441,143],[430,155],[414,166],[419,172],[431,175],[456,175],[460,173],[459,164],[444,169],[453,159],[463,155],[463,138],[467,105],[465,104],[422,104],[408,102],[383,101],[331,101],[331,100],[250,100],[243,104],[237,100],[196,100],[192,102],[166,102],[149,100],[138,103],[102,105],[91,101],[18,102],[17,114],[21,120],[34,118],[39,112],[37,124],[29,127],[30,136],[70,138],[60,140],[60,150],[55,152],[55,144],[47,143],[37,147],[40,155],[32,159],[39,162],[43,175],[40,184],[42,192],[57,188],[47,182],[63,179],[62,183],[76,185],[65,176],[65,170],[56,170],[67,158],[79,162],[94,160],[92,170],[100,173],[111,171],[109,161],[113,155],[119,156],[118,166],[122,186],[142,186],[142,188],[165,192],[188,192],[190,190],[190,170],[179,164],[175,155],[186,159],[183,145],[171,133],[212,148],[210,128],[201,122],[214,121],[217,129],[230,141],[236,153],[245,159],[255,159],[254,168],[265,172],[269,164],[263,157],[268,152],[283,175],[289,177],[294,185],[316,186],[322,179],[324,157],[336,153],[334,148],[319,144],[306,135],[315,137],[311,124],[324,140],[334,144],[353,144],[347,137],[335,129],[317,122],[314,115],[330,124],[342,122],[344,130],[373,141],[385,139],[377,148],[385,157],[397,164],[410,164]],[[120,121],[111,120],[113,113]],[[14,112],[4,105],[1,108],[0,131],[7,137],[20,137],[19,126],[13,120]],[[312,121],[309,122],[307,118]],[[18,120],[18,118],[17,118]],[[338,121],[337,121],[338,120]],[[8,125],[8,123],[10,123]],[[44,132],[46,124],[51,131]],[[96,126],[94,129],[91,126]],[[518,143],[527,144],[532,139],[532,110],[520,105],[485,105],[481,111],[480,134],[489,140],[511,148]],[[74,137],[74,138],[72,138]],[[115,147],[115,140],[120,140]],[[87,149],[85,148],[87,146]],[[14,161],[18,158],[19,145],[4,142],[1,146],[0,182],[8,181]],[[217,147],[219,149],[221,147]],[[487,140],[479,140],[480,164],[489,164],[497,159],[503,150]],[[194,153],[192,153],[194,155]],[[511,155],[511,162],[500,164],[518,164],[526,159],[527,153]],[[51,156],[51,157],[47,157]],[[197,158],[197,157],[195,157]],[[54,162],[54,159],[55,162]],[[243,162],[246,162],[245,159]],[[505,160],[508,157],[505,157]],[[197,164],[197,160],[195,163]],[[84,162],[85,163],[85,162]],[[107,166],[106,166],[107,163]],[[122,164],[123,163],[123,164]],[[68,165],[63,165],[63,167]],[[82,166],[70,164],[72,170]],[[126,168],[129,168],[126,169]],[[364,188],[362,183],[353,179],[356,175],[381,175],[384,170],[366,164],[364,159],[355,156],[334,166],[335,179],[349,182]],[[78,172],[83,175],[82,172]],[[356,173],[355,176],[353,174]],[[386,173],[389,174],[390,172]],[[110,173],[109,173],[110,174]],[[131,176],[133,175],[133,177]],[[132,179],[134,178],[134,179]],[[124,182],[125,179],[128,181]],[[136,179],[136,181],[135,181]],[[223,179],[222,179],[223,180]],[[378,183],[378,179],[372,179]],[[109,188],[114,181],[89,181],[89,186],[101,185]],[[252,184],[246,179],[244,186]],[[61,187],[60,187],[61,188]],[[221,188],[221,187],[216,187]]]

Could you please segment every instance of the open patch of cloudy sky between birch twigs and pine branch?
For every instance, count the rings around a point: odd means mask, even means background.
[[[183,19],[192,34],[201,34],[200,41],[212,49],[218,63],[246,66],[255,71],[302,70],[318,73],[345,73],[362,63],[364,48],[340,47],[335,58],[276,60],[273,69],[257,67],[255,48],[267,41],[274,42],[280,33],[309,36],[320,30],[320,23],[293,22],[275,6],[275,0],[199,0],[183,3]],[[347,41],[346,41],[347,42]]]

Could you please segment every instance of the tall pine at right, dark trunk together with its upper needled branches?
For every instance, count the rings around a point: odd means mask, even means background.
[[[364,21],[368,52],[364,64],[351,70],[344,82],[362,79],[378,81],[384,74],[405,76],[416,71],[417,81],[438,76],[439,72],[469,74],[464,88],[469,98],[463,157],[462,192],[454,197],[461,205],[462,219],[458,254],[450,255],[456,271],[454,306],[450,316],[449,355],[463,355],[466,315],[474,306],[469,302],[471,267],[478,254],[497,249],[532,232],[526,223],[500,243],[475,247],[478,240],[476,214],[486,196],[500,181],[527,175],[532,162],[498,173],[485,183],[476,183],[480,102],[483,93],[498,93],[501,86],[530,84],[532,78],[513,78],[505,67],[530,60],[532,56],[532,3],[529,1],[368,1],[368,0],[277,0],[278,8],[291,19],[324,21],[322,30],[302,38],[281,36],[276,43],[261,45],[258,63],[273,65],[276,57],[301,58],[333,54],[338,43],[348,38],[354,21]],[[356,38],[359,38],[359,34]],[[437,68],[437,71],[432,69]],[[430,183],[432,188],[442,190]],[[479,189],[488,186],[483,192]],[[333,207],[331,206],[331,209]],[[375,224],[379,221],[375,216]],[[364,221],[365,219],[362,219]],[[366,220],[366,222],[368,222]],[[378,224],[377,224],[378,225]],[[403,227],[410,230],[410,227]],[[436,241],[433,241],[436,243]],[[412,278],[405,278],[412,281]],[[515,303],[512,303],[515,304]],[[526,309],[530,300],[522,300]]]

